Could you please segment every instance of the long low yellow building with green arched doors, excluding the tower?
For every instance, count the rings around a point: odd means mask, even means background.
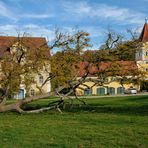
[[[82,67],[85,64],[81,64],[80,75],[83,76]],[[116,71],[111,70],[110,67],[112,65],[120,65],[120,68],[115,68]],[[116,61],[112,62],[101,62],[99,65],[100,70],[95,70],[98,68],[91,67],[89,70],[90,75],[86,78],[85,83],[80,85],[80,88],[77,88],[77,95],[116,95],[116,94],[124,94],[126,90],[134,88],[136,90],[140,90],[140,86],[138,84],[134,84],[130,82],[130,79],[135,78],[135,74],[138,70],[135,61]],[[109,70],[109,73],[107,72]],[[100,78],[100,73],[104,77]],[[106,75],[106,73],[108,73]],[[134,74],[135,73],[135,74]],[[79,77],[80,78],[80,77]],[[78,78],[78,79],[79,79]]]

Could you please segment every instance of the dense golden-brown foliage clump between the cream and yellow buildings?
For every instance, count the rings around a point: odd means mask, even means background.
[[[72,50],[57,52],[51,59],[51,71],[54,75],[52,80],[52,88],[55,89],[61,85],[67,85],[79,68],[80,56]]]

